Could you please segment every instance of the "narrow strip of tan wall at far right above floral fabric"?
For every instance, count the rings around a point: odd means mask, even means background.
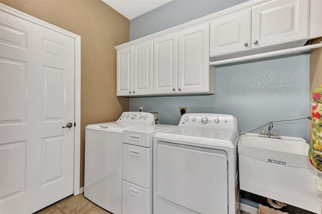
[[[318,38],[312,41],[312,43],[318,43],[322,41],[322,38]],[[310,101],[312,99],[312,92],[318,85],[322,84],[322,48],[315,48],[310,53]],[[311,106],[311,105],[310,105]],[[310,124],[310,139],[312,135],[312,127]]]

